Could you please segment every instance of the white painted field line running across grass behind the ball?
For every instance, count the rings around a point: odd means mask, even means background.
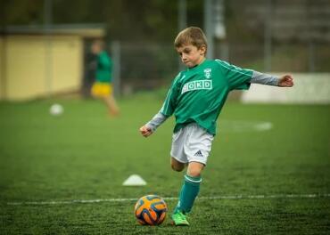
[[[274,194],[274,195],[232,195],[232,196],[210,196],[198,197],[198,200],[219,200],[219,199],[320,199],[330,198],[330,193],[326,194]],[[163,198],[164,200],[177,200],[177,198]],[[123,199],[76,199],[64,201],[23,201],[23,202],[7,202],[10,206],[21,205],[70,205],[70,204],[87,204],[87,203],[102,203],[102,202],[129,202],[136,201],[133,198]]]

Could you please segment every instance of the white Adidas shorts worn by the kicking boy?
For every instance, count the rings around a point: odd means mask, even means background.
[[[213,138],[213,134],[196,123],[189,124],[173,134],[170,156],[181,163],[200,162],[206,165]]]

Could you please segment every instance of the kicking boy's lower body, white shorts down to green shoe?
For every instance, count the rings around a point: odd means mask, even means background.
[[[210,140],[209,140],[210,139]],[[186,163],[188,169],[179,193],[179,200],[175,208],[172,220],[175,225],[189,225],[186,213],[189,213],[194,205],[202,182],[201,172],[206,164],[210,151],[209,134],[195,124],[188,125],[173,134],[171,166],[176,171],[182,171]]]

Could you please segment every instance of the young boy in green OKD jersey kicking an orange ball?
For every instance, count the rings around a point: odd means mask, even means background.
[[[187,166],[173,223],[189,225],[186,214],[193,207],[200,190],[202,169],[210,154],[216,134],[216,121],[227,95],[235,89],[249,89],[251,83],[293,86],[293,77],[273,77],[251,69],[241,69],[220,60],[206,60],[206,37],[201,28],[190,27],[181,31],[174,42],[177,53],[187,69],[172,82],[161,110],[140,128],[148,137],[172,114],[176,126],[172,137],[171,167],[181,172]]]

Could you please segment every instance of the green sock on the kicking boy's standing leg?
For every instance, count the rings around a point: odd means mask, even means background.
[[[176,213],[177,210],[180,210],[183,213],[189,213],[191,211],[194,205],[194,199],[200,191],[201,182],[201,176],[192,177],[187,174],[185,175],[185,181],[182,185],[177,207],[175,208],[174,213]]]

